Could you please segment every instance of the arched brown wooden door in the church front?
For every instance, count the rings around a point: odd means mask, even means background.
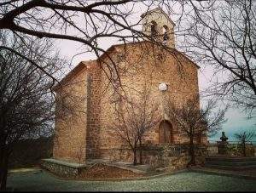
[[[173,131],[172,123],[164,120],[160,122],[159,126],[159,143],[160,144],[172,144],[173,143]]]

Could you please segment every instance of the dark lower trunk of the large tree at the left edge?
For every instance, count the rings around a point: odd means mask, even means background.
[[[6,189],[7,173],[8,173],[8,151],[1,150],[0,152],[0,190]]]

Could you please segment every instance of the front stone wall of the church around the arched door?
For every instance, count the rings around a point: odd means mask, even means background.
[[[162,111],[164,99],[171,99],[176,105],[183,105],[188,99],[198,94],[197,66],[175,49],[167,52],[153,43],[143,42],[115,46],[108,54],[119,66],[122,90],[125,91],[126,96],[132,96],[136,100],[137,92],[141,92],[143,86],[147,84],[151,89],[152,104],[160,106],[159,115],[162,119],[168,119]],[[109,66],[113,65],[108,57],[102,57],[102,60]],[[102,66],[106,65],[102,64]],[[104,70],[108,72],[107,67]],[[111,76],[113,77],[113,74],[108,74],[108,77]],[[101,111],[100,120],[98,120],[101,127],[90,128],[90,132],[93,133],[91,135],[98,139],[98,150],[94,151],[94,156],[97,157],[102,154],[102,151],[106,151],[105,149],[119,148],[120,144],[124,143],[111,125],[115,116],[115,104],[113,103],[113,85],[109,83],[108,77],[102,73]],[[158,89],[160,82],[168,84],[165,94]],[[187,134],[177,128],[172,121],[171,123],[173,144],[188,143]],[[154,145],[159,144],[159,125],[148,130],[143,141]],[[206,139],[202,139],[202,143],[205,142]]]

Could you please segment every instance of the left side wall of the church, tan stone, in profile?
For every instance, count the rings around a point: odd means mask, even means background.
[[[90,99],[86,65],[93,65],[93,62],[81,62],[74,69],[77,69],[77,72],[73,75],[74,70],[71,71],[64,81],[61,81],[61,86],[55,88],[57,105],[53,156],[56,159],[85,162],[87,109]]]

